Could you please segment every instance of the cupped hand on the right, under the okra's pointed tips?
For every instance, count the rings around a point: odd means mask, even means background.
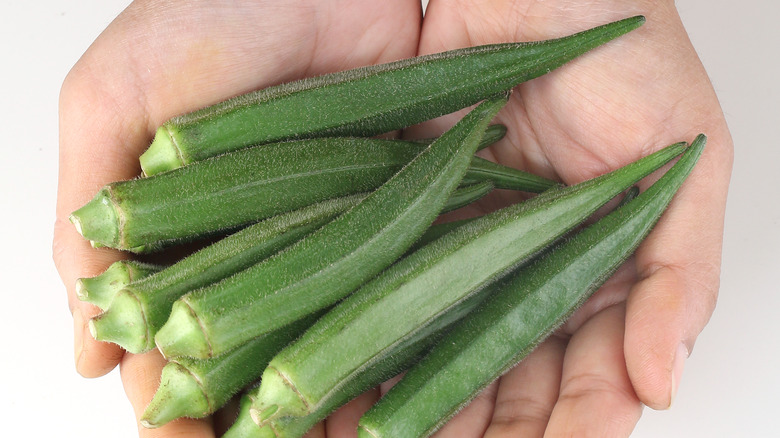
[[[733,153],[674,2],[432,0],[419,53],[563,36],[635,14],[647,17],[640,29],[519,86],[499,114],[508,136],[488,152],[573,184],[703,132],[701,161],[635,257],[439,437],[628,436],[642,405],[672,403],[715,306]]]

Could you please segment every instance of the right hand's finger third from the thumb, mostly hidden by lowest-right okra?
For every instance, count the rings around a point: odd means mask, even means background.
[[[497,392],[498,382],[493,382],[482,390],[463,410],[452,417],[438,432],[433,434],[433,437],[482,437],[490,424]]]

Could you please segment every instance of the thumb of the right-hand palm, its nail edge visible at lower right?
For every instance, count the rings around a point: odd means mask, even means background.
[[[697,167],[636,255],[626,363],[640,399],[669,408],[684,362],[714,311],[720,283],[730,137],[710,137]],[[728,167],[727,167],[728,166]]]

